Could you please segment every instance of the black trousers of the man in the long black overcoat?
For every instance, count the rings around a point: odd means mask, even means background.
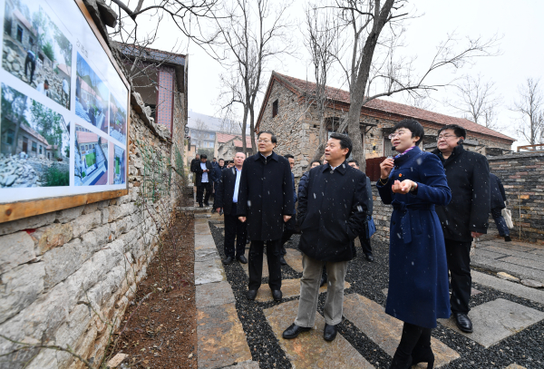
[[[249,290],[257,290],[261,285],[263,277],[263,251],[267,243],[268,259],[268,286],[271,290],[281,289],[281,264],[279,264],[279,248],[281,248],[281,239],[257,241],[251,240],[249,247]]]

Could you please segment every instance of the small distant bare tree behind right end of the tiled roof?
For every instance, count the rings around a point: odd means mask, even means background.
[[[455,83],[457,99],[446,101],[448,106],[462,114],[463,118],[481,124],[491,130],[498,128],[497,108],[501,99],[497,96],[495,83],[482,81],[481,75],[465,75]]]

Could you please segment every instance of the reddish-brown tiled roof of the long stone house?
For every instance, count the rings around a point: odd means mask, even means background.
[[[302,93],[313,93],[316,91],[316,83],[311,83],[303,80],[299,80],[294,77],[290,77],[285,74],[280,74],[274,72],[274,74],[281,80],[290,83],[295,87],[299,92]],[[336,102],[345,102],[350,103],[349,92],[334,87],[326,86],[325,93],[328,99],[334,100]],[[405,117],[414,118],[422,121],[432,121],[438,124],[458,124],[467,131],[478,132],[481,134],[486,134],[489,136],[494,136],[503,140],[516,141],[509,136],[506,136],[498,131],[490,130],[478,123],[469,121],[464,118],[452,117],[449,115],[444,115],[438,112],[430,112],[423,109],[415,108],[410,105],[406,105],[398,102],[389,102],[382,99],[374,99],[370,102],[367,102],[364,107],[374,109],[380,112],[390,112],[393,114],[403,115]]]

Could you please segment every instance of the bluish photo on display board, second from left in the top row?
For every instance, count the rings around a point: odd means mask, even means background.
[[[80,53],[77,53],[75,79],[75,114],[108,133],[110,92]]]

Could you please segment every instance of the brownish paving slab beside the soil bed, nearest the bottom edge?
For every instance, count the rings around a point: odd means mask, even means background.
[[[251,360],[234,303],[199,308],[199,368],[214,369]]]

